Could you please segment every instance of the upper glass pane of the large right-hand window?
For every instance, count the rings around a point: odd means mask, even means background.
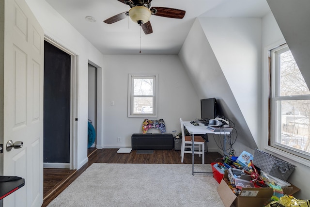
[[[309,95],[310,91],[290,50],[279,54],[280,96]]]

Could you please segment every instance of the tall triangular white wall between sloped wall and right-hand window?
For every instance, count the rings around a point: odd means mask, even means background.
[[[258,142],[262,21],[260,18],[199,18],[199,21],[248,128]]]

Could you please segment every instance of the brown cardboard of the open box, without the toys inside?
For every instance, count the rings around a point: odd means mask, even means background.
[[[228,179],[227,171],[225,171],[224,178],[217,187],[217,192],[225,207],[262,207],[268,203],[273,195],[272,188],[242,188],[240,195],[236,196],[224,181],[225,178]],[[294,185],[283,188],[284,194],[287,195],[293,195],[299,190]]]

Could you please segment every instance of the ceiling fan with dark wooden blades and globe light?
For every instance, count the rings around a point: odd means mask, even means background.
[[[107,24],[112,24],[117,21],[120,21],[126,16],[138,23],[145,34],[150,34],[153,32],[152,25],[150,23],[151,15],[163,16],[168,18],[179,18],[182,19],[185,16],[185,11],[174,8],[167,7],[151,7],[152,0],[118,0],[124,4],[130,6],[129,11],[123,12],[121,14],[112,16],[103,22]]]

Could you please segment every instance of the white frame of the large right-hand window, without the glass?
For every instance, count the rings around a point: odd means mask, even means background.
[[[288,45],[283,43],[277,47],[268,49],[268,83],[269,83],[269,107],[268,107],[268,143],[265,145],[265,149],[272,152],[276,152],[279,155],[285,156],[286,158],[296,160],[297,162],[309,165],[310,156],[293,147],[288,147],[284,144],[277,143],[277,133],[279,133],[279,109],[276,106],[277,101],[282,100],[305,100],[310,99],[310,95],[296,95],[296,96],[279,96],[279,58],[274,52],[282,53],[289,51]],[[276,60],[274,62],[274,60]],[[309,154],[309,153],[308,153]]]

